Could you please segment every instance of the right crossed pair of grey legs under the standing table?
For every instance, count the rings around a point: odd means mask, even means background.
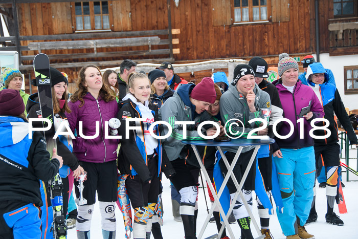
[[[221,155],[222,160],[223,160],[223,162],[225,163],[226,167],[229,169],[229,166],[230,166],[230,168],[231,168],[233,165],[235,166],[236,161],[237,161],[238,158],[239,158],[239,154],[236,154],[236,155],[235,155],[232,164],[229,165],[229,162],[228,162],[226,156],[223,154],[221,148],[220,148],[220,147],[217,147],[217,148],[218,148],[218,150],[219,150],[219,152],[220,152],[220,155]],[[235,178],[235,175],[234,175],[234,173],[232,172],[232,170],[231,170],[231,171],[228,171],[228,174],[226,175],[225,179],[227,179],[227,178],[229,179],[229,177],[231,176],[231,178],[232,178],[232,180],[233,180],[233,182],[234,182],[234,184],[235,184],[235,186],[236,186],[236,188],[237,188],[237,191],[236,191],[236,194],[235,194],[235,196],[234,196],[233,201],[236,202],[238,195],[240,195],[240,198],[241,198],[241,200],[242,200],[242,202],[243,202],[243,204],[244,204],[246,210],[248,211],[248,213],[249,213],[249,215],[250,215],[250,218],[252,219],[251,221],[253,222],[253,225],[254,225],[254,227],[255,227],[255,229],[256,229],[256,231],[257,231],[257,234],[259,235],[257,238],[263,238],[264,235],[261,234],[261,230],[259,229],[259,226],[257,225],[257,222],[256,222],[256,220],[255,220],[255,218],[254,218],[254,215],[252,214],[252,211],[251,211],[250,208],[249,208],[249,204],[246,202],[246,200],[245,200],[245,198],[244,198],[244,196],[243,196],[243,193],[242,193],[242,191],[241,191],[241,188],[243,187],[243,184],[244,184],[246,178],[248,177],[250,168],[251,168],[251,166],[252,166],[252,164],[253,164],[253,162],[254,162],[254,160],[255,160],[255,158],[256,158],[256,154],[257,154],[257,151],[259,150],[259,148],[260,148],[260,145],[256,145],[256,146],[255,146],[254,153],[253,153],[252,156],[251,156],[251,159],[250,159],[250,161],[249,161],[248,167],[245,169],[245,172],[244,172],[244,174],[243,174],[243,176],[242,176],[242,179],[241,179],[241,181],[240,181],[240,184],[237,182],[237,180],[236,180],[236,178]],[[241,149],[241,150],[242,150],[242,149]],[[241,150],[240,150],[240,153],[241,153]],[[229,175],[229,173],[230,173],[230,175]],[[224,182],[225,182],[225,181],[224,181]],[[232,204],[230,205],[228,214],[226,215],[227,218],[228,218],[228,216],[230,215],[231,211],[233,210],[234,206],[235,206],[234,203],[232,203]],[[224,229],[224,226],[222,225],[219,234],[222,233],[223,229]]]

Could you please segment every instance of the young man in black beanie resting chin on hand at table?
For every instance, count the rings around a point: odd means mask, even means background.
[[[229,90],[222,94],[219,105],[221,119],[224,124],[228,121],[233,122],[232,119],[237,119],[237,121],[234,121],[234,123],[231,124],[231,128],[230,123],[226,124],[225,128],[227,134],[234,138],[246,138],[253,128],[257,128],[260,125],[259,122],[249,123],[248,121],[255,118],[263,118],[260,114],[261,108],[267,110],[271,109],[269,94],[259,89],[258,85],[255,83],[254,70],[247,64],[239,64],[235,67],[234,80],[229,86]],[[264,128],[261,131],[258,131],[257,135],[267,135],[268,131],[268,128]],[[222,147],[222,151],[226,151],[225,156],[230,164],[232,163],[237,150],[238,146]],[[248,163],[253,153],[254,146],[248,146],[242,149],[240,157],[233,169],[238,182],[241,180],[245,169],[248,167]],[[223,175],[226,175],[228,169],[222,160],[219,160],[219,165]],[[250,168],[249,175],[244,182],[243,188],[240,188],[243,190],[245,200],[249,202],[251,208],[252,190],[255,190],[255,175],[256,160]],[[237,189],[231,178],[227,183],[227,187],[230,192],[231,200],[233,200]],[[250,229],[251,219],[249,213],[243,206],[241,198],[238,198],[236,202],[232,203],[235,203],[233,212],[235,219],[241,228],[241,237],[247,239],[254,238]]]

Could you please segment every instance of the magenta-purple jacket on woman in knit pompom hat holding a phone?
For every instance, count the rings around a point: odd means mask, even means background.
[[[275,138],[280,148],[303,148],[314,145],[314,140],[309,136],[309,131],[312,128],[310,121],[315,118],[323,118],[324,112],[322,104],[317,98],[315,92],[308,86],[302,84],[301,81],[296,83],[294,93],[289,92],[283,85],[282,80],[276,80],[273,82],[276,85],[278,94],[280,96],[283,118],[290,120],[294,125],[294,133],[288,139]],[[311,100],[311,112],[313,117],[308,121],[303,118],[303,139],[300,139],[300,123],[297,123],[299,119],[301,109],[308,106]],[[290,126],[287,122],[283,122],[278,133],[282,136],[288,135]],[[314,132],[315,134],[315,132]]]

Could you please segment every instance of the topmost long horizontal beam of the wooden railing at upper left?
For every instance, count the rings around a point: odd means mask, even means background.
[[[105,33],[73,33],[56,35],[19,36],[20,40],[75,40],[91,38],[117,38],[128,36],[158,36],[168,35],[168,29],[148,31],[127,31],[127,32],[105,32]],[[14,36],[0,37],[0,41],[15,40]]]

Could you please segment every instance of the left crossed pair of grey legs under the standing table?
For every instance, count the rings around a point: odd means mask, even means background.
[[[199,233],[199,235],[198,235],[198,237],[197,237],[198,239],[201,239],[201,238],[203,237],[204,231],[205,231],[205,229],[206,229],[206,227],[207,227],[207,225],[208,225],[208,223],[209,223],[210,217],[211,217],[211,215],[213,214],[213,211],[214,211],[214,208],[215,208],[216,205],[217,205],[217,207],[219,208],[219,212],[220,212],[222,215],[225,215],[225,212],[224,212],[224,210],[222,209],[222,206],[221,206],[221,204],[220,204],[220,202],[219,202],[219,197],[220,197],[220,195],[221,195],[221,193],[222,193],[222,191],[223,191],[223,187],[225,187],[225,184],[222,184],[222,185],[221,185],[222,190],[221,190],[221,188],[220,188],[219,193],[216,194],[216,193],[215,193],[215,189],[214,189],[214,187],[213,187],[213,185],[212,185],[212,181],[211,181],[211,179],[210,179],[210,177],[209,177],[209,175],[208,175],[208,172],[206,171],[206,168],[205,168],[205,166],[204,166],[204,164],[203,164],[203,162],[202,162],[202,160],[201,160],[201,158],[200,158],[200,156],[199,156],[199,153],[198,153],[198,151],[197,151],[196,146],[195,146],[195,145],[191,145],[191,147],[193,148],[193,151],[194,151],[194,154],[195,154],[195,156],[196,156],[196,159],[197,159],[198,162],[199,162],[200,168],[202,168],[202,170],[203,170],[203,175],[204,175],[205,179],[209,182],[209,183],[208,183],[208,186],[209,186],[209,188],[210,188],[210,190],[211,190],[211,192],[212,192],[212,194],[213,194],[213,198],[214,198],[214,203],[212,204],[211,209],[210,209],[210,211],[209,211],[209,214],[207,215],[207,218],[205,219],[204,226],[202,227],[202,230],[200,230],[200,233]],[[234,168],[234,167],[232,167],[232,168]],[[232,169],[231,169],[231,171],[232,171]],[[233,231],[231,230],[229,221],[228,221],[228,219],[227,219],[226,217],[223,217],[223,223],[224,223],[225,225],[227,225],[227,228],[228,228],[228,231],[229,231],[229,234],[230,234],[231,238],[232,238],[232,239],[235,239],[234,233],[233,233]],[[221,233],[222,233],[222,232],[221,232]],[[221,235],[221,234],[220,234],[220,233],[218,234],[218,237],[217,237],[218,239],[220,239],[219,235]]]

